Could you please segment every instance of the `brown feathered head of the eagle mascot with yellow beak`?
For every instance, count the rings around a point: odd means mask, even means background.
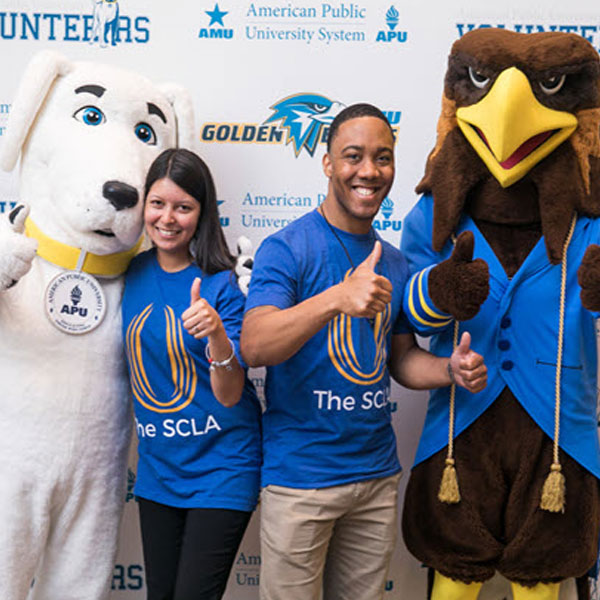
[[[576,211],[600,216],[600,60],[576,34],[478,29],[452,46],[435,148],[433,247],[463,211],[494,228],[536,226],[559,263]],[[535,237],[535,236],[534,236]]]

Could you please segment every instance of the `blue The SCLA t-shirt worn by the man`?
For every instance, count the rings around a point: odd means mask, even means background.
[[[258,249],[246,312],[286,309],[340,283],[376,239],[373,229],[332,229],[317,211],[299,218]],[[376,272],[393,284],[386,310],[373,320],[340,314],[294,356],[267,368],[263,486],[321,488],[400,470],[387,360],[392,335],[409,331],[402,313],[408,267],[398,249],[382,247]]]

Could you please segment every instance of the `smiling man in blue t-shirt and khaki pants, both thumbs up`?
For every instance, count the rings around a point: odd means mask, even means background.
[[[323,204],[259,248],[242,353],[266,365],[262,600],[382,597],[396,539],[390,374],[413,388],[486,384],[468,334],[452,358],[416,344],[408,274],[373,218],[394,180],[383,113],[356,104],[329,131]]]

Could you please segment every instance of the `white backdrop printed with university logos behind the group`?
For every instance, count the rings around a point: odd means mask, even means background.
[[[94,10],[104,14],[108,4],[118,4],[118,18],[107,12],[106,36],[91,40]],[[243,234],[256,248],[317,207],[326,191],[325,128],[318,120],[310,121],[311,132],[309,125],[289,127],[294,115],[281,102],[297,96],[315,115],[332,102],[371,102],[397,131],[396,182],[375,220],[397,244],[434,143],[449,47],[487,26],[572,31],[600,49],[596,0],[1,0],[0,144],[20,75],[44,48],[179,82],[194,98],[197,149],[214,173],[227,238],[233,244]],[[0,212],[17,199],[15,175],[0,173]],[[260,390],[262,373],[254,379]],[[426,396],[396,389],[393,400],[400,458],[410,467]],[[145,598],[134,481],[132,452],[112,600]],[[256,514],[227,599],[258,598],[259,572]],[[399,541],[386,598],[424,598],[425,582],[425,570]],[[511,595],[505,582],[493,580],[481,597]],[[561,598],[573,597],[568,582]]]

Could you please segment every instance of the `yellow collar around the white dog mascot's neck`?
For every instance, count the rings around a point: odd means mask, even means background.
[[[25,235],[38,241],[37,255],[40,258],[63,269],[81,270],[98,277],[118,277],[125,273],[131,259],[137,254],[142,244],[140,237],[131,250],[106,255],[92,254],[81,248],[53,240],[43,233],[30,218],[25,221]],[[80,261],[82,264],[79,264]]]

